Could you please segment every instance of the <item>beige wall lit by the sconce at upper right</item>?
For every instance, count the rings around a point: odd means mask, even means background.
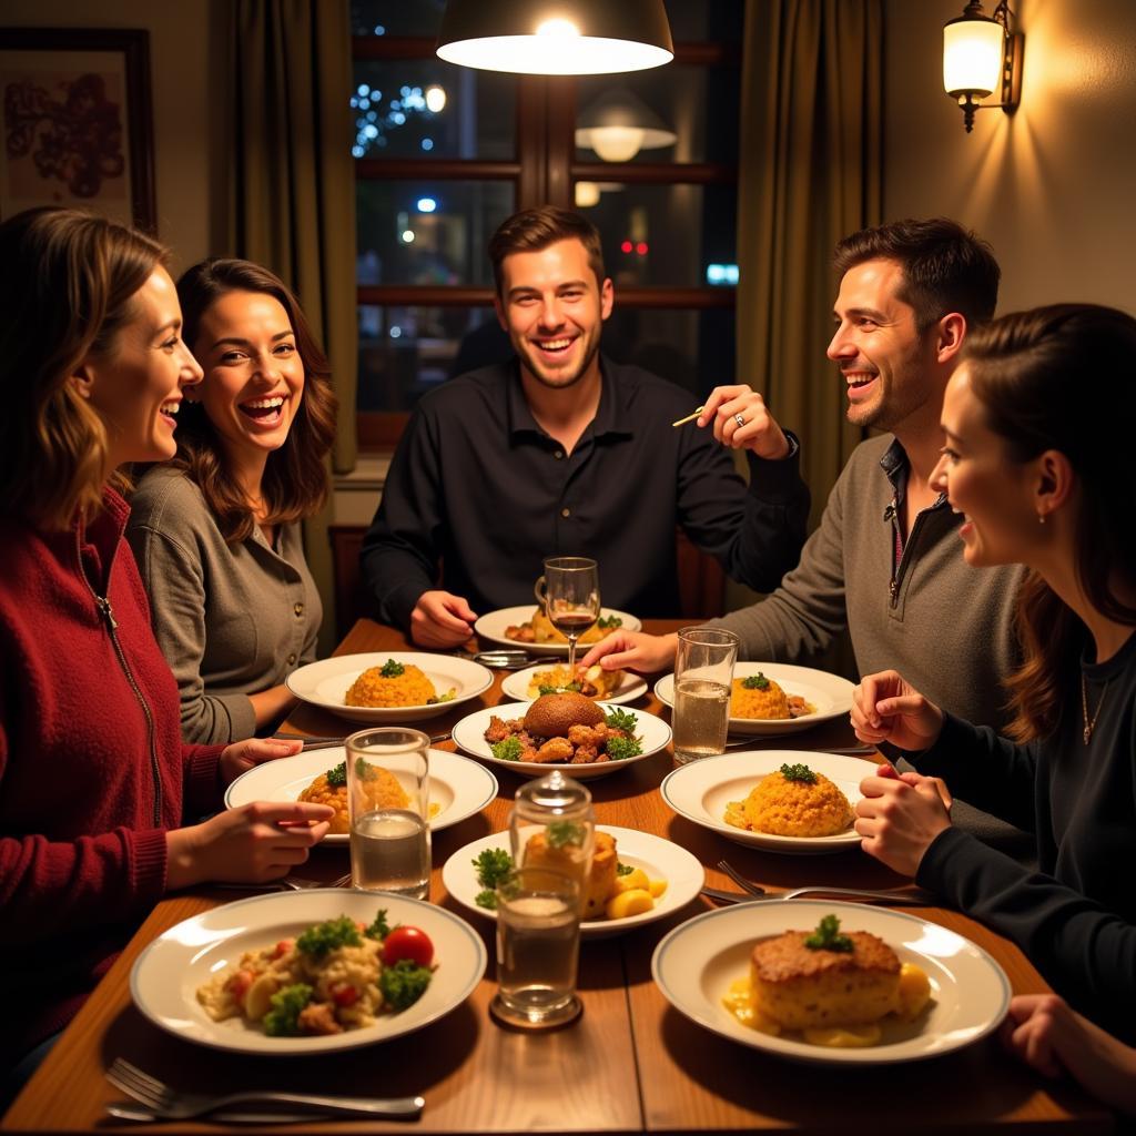
[[[1085,300],[1136,314],[1136,3],[1012,7],[1021,106],[979,111],[967,134],[942,83],[942,27],[963,0],[885,0],[884,215],[945,214],[987,237],[1000,311]]]

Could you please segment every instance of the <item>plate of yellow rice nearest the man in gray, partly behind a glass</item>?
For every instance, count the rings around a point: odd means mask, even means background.
[[[738,662],[729,696],[730,734],[793,734],[852,712],[854,686],[840,675],[787,662]],[[675,705],[675,676],[663,675],[654,693]]]

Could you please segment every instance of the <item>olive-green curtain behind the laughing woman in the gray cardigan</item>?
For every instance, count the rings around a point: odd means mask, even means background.
[[[295,291],[332,364],[336,473],[356,462],[354,168],[348,0],[235,0],[231,8],[228,245]],[[331,503],[304,527],[335,645]]]

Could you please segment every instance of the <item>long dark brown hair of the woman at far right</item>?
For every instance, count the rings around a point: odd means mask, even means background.
[[[1059,450],[1077,477],[1075,569],[1101,615],[1136,626],[1116,585],[1136,586],[1136,319],[1061,303],[1014,312],[971,332],[963,349],[987,426],[1011,460]],[[1079,683],[1081,620],[1031,573],[1018,601],[1025,662],[1008,680],[1019,741],[1052,734]]]

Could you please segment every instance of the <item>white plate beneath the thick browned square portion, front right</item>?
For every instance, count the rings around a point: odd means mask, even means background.
[[[753,944],[786,930],[812,930],[827,914],[844,932],[878,935],[930,982],[932,1003],[912,1022],[882,1022],[884,1037],[863,1049],[828,1049],[743,1026],[724,1005],[729,985],[749,974]],[[939,1056],[996,1029],[1010,1004],[1010,982],[982,947],[953,930],[902,911],[830,900],[738,903],[696,916],[655,947],[651,975],[670,1004],[732,1042],[816,1064],[891,1064]]]

